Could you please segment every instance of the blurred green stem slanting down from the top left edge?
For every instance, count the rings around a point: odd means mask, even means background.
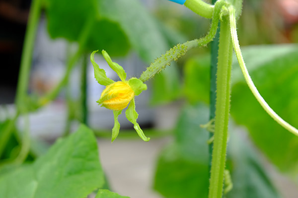
[[[36,30],[41,12],[41,0],[32,0],[28,25],[25,34],[24,47],[22,51],[19,79],[16,90],[16,106],[21,113],[26,111],[27,90],[29,83],[29,74],[32,61],[32,53],[35,42]]]

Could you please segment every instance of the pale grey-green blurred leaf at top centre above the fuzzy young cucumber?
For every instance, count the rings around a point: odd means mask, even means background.
[[[139,0],[98,0],[97,2],[99,13],[120,24],[132,47],[147,63],[168,49],[164,37],[158,30],[158,25]]]

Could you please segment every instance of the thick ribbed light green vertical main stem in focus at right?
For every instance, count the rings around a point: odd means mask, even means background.
[[[228,19],[221,22],[217,71],[217,100],[214,147],[212,153],[209,198],[221,198],[223,194],[224,167],[227,145],[227,128],[230,108],[232,44]]]

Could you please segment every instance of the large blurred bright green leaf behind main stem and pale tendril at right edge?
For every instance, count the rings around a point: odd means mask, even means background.
[[[283,119],[298,127],[298,45],[251,46],[243,48],[242,53],[263,98]],[[208,89],[202,88],[209,87],[206,58],[197,57],[186,64],[185,92],[190,101],[205,101],[209,96]],[[263,110],[233,58],[231,115],[238,124],[248,128],[252,140],[275,165],[282,171],[296,172],[298,137],[279,126]],[[205,78],[198,77],[202,75]]]

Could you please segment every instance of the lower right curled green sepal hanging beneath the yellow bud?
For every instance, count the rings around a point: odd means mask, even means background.
[[[130,104],[128,105],[128,108],[125,112],[126,118],[134,124],[134,129],[137,131],[138,135],[142,140],[148,142],[150,138],[147,138],[141,129],[140,125],[137,123],[137,119],[139,114],[136,111],[136,104],[135,104],[135,99],[132,99]]]

